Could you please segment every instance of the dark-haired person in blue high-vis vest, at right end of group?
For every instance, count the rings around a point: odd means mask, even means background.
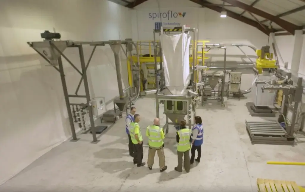
[[[201,145],[203,144],[203,126],[201,117],[195,117],[196,125],[192,128],[192,148],[191,148],[191,164],[194,160],[200,162],[201,158]],[[198,152],[197,159],[195,159],[196,150]]]

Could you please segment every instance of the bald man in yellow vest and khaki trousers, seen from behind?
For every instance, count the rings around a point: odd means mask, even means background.
[[[165,156],[164,156],[164,142],[163,139],[165,138],[164,131],[160,126],[160,119],[155,118],[153,120],[153,125],[149,125],[146,129],[146,136],[148,137],[148,159],[147,159],[147,166],[149,170],[152,170],[152,165],[154,163],[154,158],[156,152],[159,157],[159,169],[160,172],[163,172],[167,169],[165,165]]]

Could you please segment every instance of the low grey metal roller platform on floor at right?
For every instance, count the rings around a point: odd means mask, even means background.
[[[246,129],[252,144],[293,145],[294,137],[277,122],[246,121]]]

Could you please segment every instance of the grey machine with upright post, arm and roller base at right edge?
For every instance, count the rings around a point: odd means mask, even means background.
[[[275,144],[275,145],[293,145],[294,144],[294,128],[297,121],[297,112],[299,103],[302,102],[303,86],[302,78],[297,79],[296,85],[293,85],[291,73],[284,72],[278,69],[278,78],[280,81],[257,82],[264,86],[262,91],[268,90],[283,90],[284,99],[282,102],[282,110],[280,115],[283,115],[285,127],[280,125],[281,122],[249,122],[246,121],[246,129],[250,140],[253,144]],[[287,83],[282,83],[283,79]],[[279,83],[281,82],[281,83]],[[292,117],[287,118],[288,112],[291,111]]]

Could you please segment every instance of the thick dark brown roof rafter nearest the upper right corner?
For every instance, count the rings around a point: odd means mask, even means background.
[[[283,19],[280,19],[276,16],[273,16],[269,13],[266,13],[264,11],[261,11],[259,9],[256,9],[250,5],[247,5],[245,3],[242,3],[240,1],[237,0],[222,0],[223,2],[227,2],[231,5],[234,5],[240,9],[244,9],[245,11],[251,12],[253,14],[256,14],[258,16],[264,17],[265,19],[270,20],[271,22],[274,22],[276,24],[278,24],[279,26],[281,26],[283,29],[285,29],[287,32],[291,33],[292,35],[294,35],[294,31],[297,29],[300,29],[300,26],[297,26],[293,23],[289,23],[288,21],[285,21]]]

